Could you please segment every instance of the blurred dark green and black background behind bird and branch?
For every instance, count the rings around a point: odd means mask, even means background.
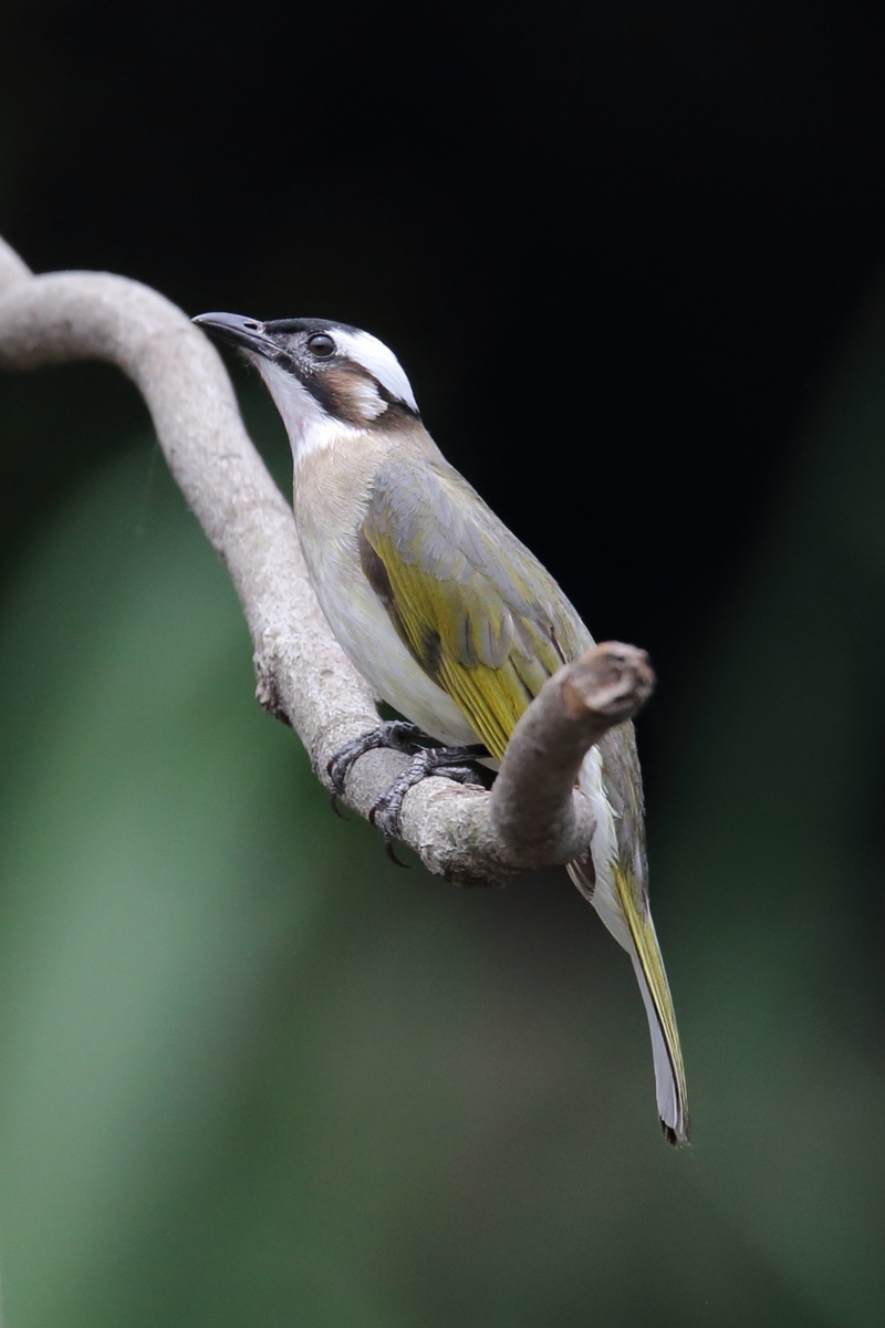
[[[7,0],[25,260],[377,332],[651,652],[695,1139],[563,874],[332,817],[131,386],[7,377],[8,1328],[882,1321],[884,54],[873,4]]]

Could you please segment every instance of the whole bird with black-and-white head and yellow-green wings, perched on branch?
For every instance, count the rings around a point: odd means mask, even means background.
[[[451,466],[425,428],[397,356],[328,319],[194,319],[257,368],[293,457],[299,539],[320,607],[375,695],[409,721],[381,725],[332,762],[390,740],[438,745],[421,773],[500,761],[521,713],[593,637],[533,554]],[[415,726],[414,730],[411,726]],[[423,766],[421,765],[423,760]],[[669,1143],[689,1142],[679,1035],[651,920],[642,778],[632,724],[609,730],[579,776],[596,829],[568,872],[636,971],[651,1036],[657,1109]],[[395,830],[409,782],[385,809]]]

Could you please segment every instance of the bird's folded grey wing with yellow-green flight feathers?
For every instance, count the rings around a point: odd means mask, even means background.
[[[577,614],[442,458],[391,456],[360,543],[401,639],[500,758],[544,681],[589,647]]]

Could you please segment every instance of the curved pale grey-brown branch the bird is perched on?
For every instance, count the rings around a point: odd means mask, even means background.
[[[150,409],[161,448],[222,556],[255,649],[257,697],[300,734],[328,786],[329,758],[378,722],[369,685],[320,611],[289,503],[243,426],[231,381],[174,304],[100,272],[33,276],[0,240],[0,368],[98,359],[115,364]],[[403,805],[403,838],[435,872],[462,883],[506,880],[586,850],[593,819],[573,791],[588,748],[644,704],[641,651],[602,645],[551,679],[523,716],[492,793],[429,778]],[[348,777],[361,815],[407,762],[369,752]]]

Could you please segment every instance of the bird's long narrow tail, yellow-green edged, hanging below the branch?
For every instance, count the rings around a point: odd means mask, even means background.
[[[670,984],[661,947],[642,887],[618,866],[593,879],[589,863],[569,863],[569,875],[590,900],[614,939],[633,960],[642,1003],[649,1020],[654,1054],[654,1085],[658,1116],[667,1143],[689,1142],[685,1066]],[[606,879],[608,878],[608,879]]]

